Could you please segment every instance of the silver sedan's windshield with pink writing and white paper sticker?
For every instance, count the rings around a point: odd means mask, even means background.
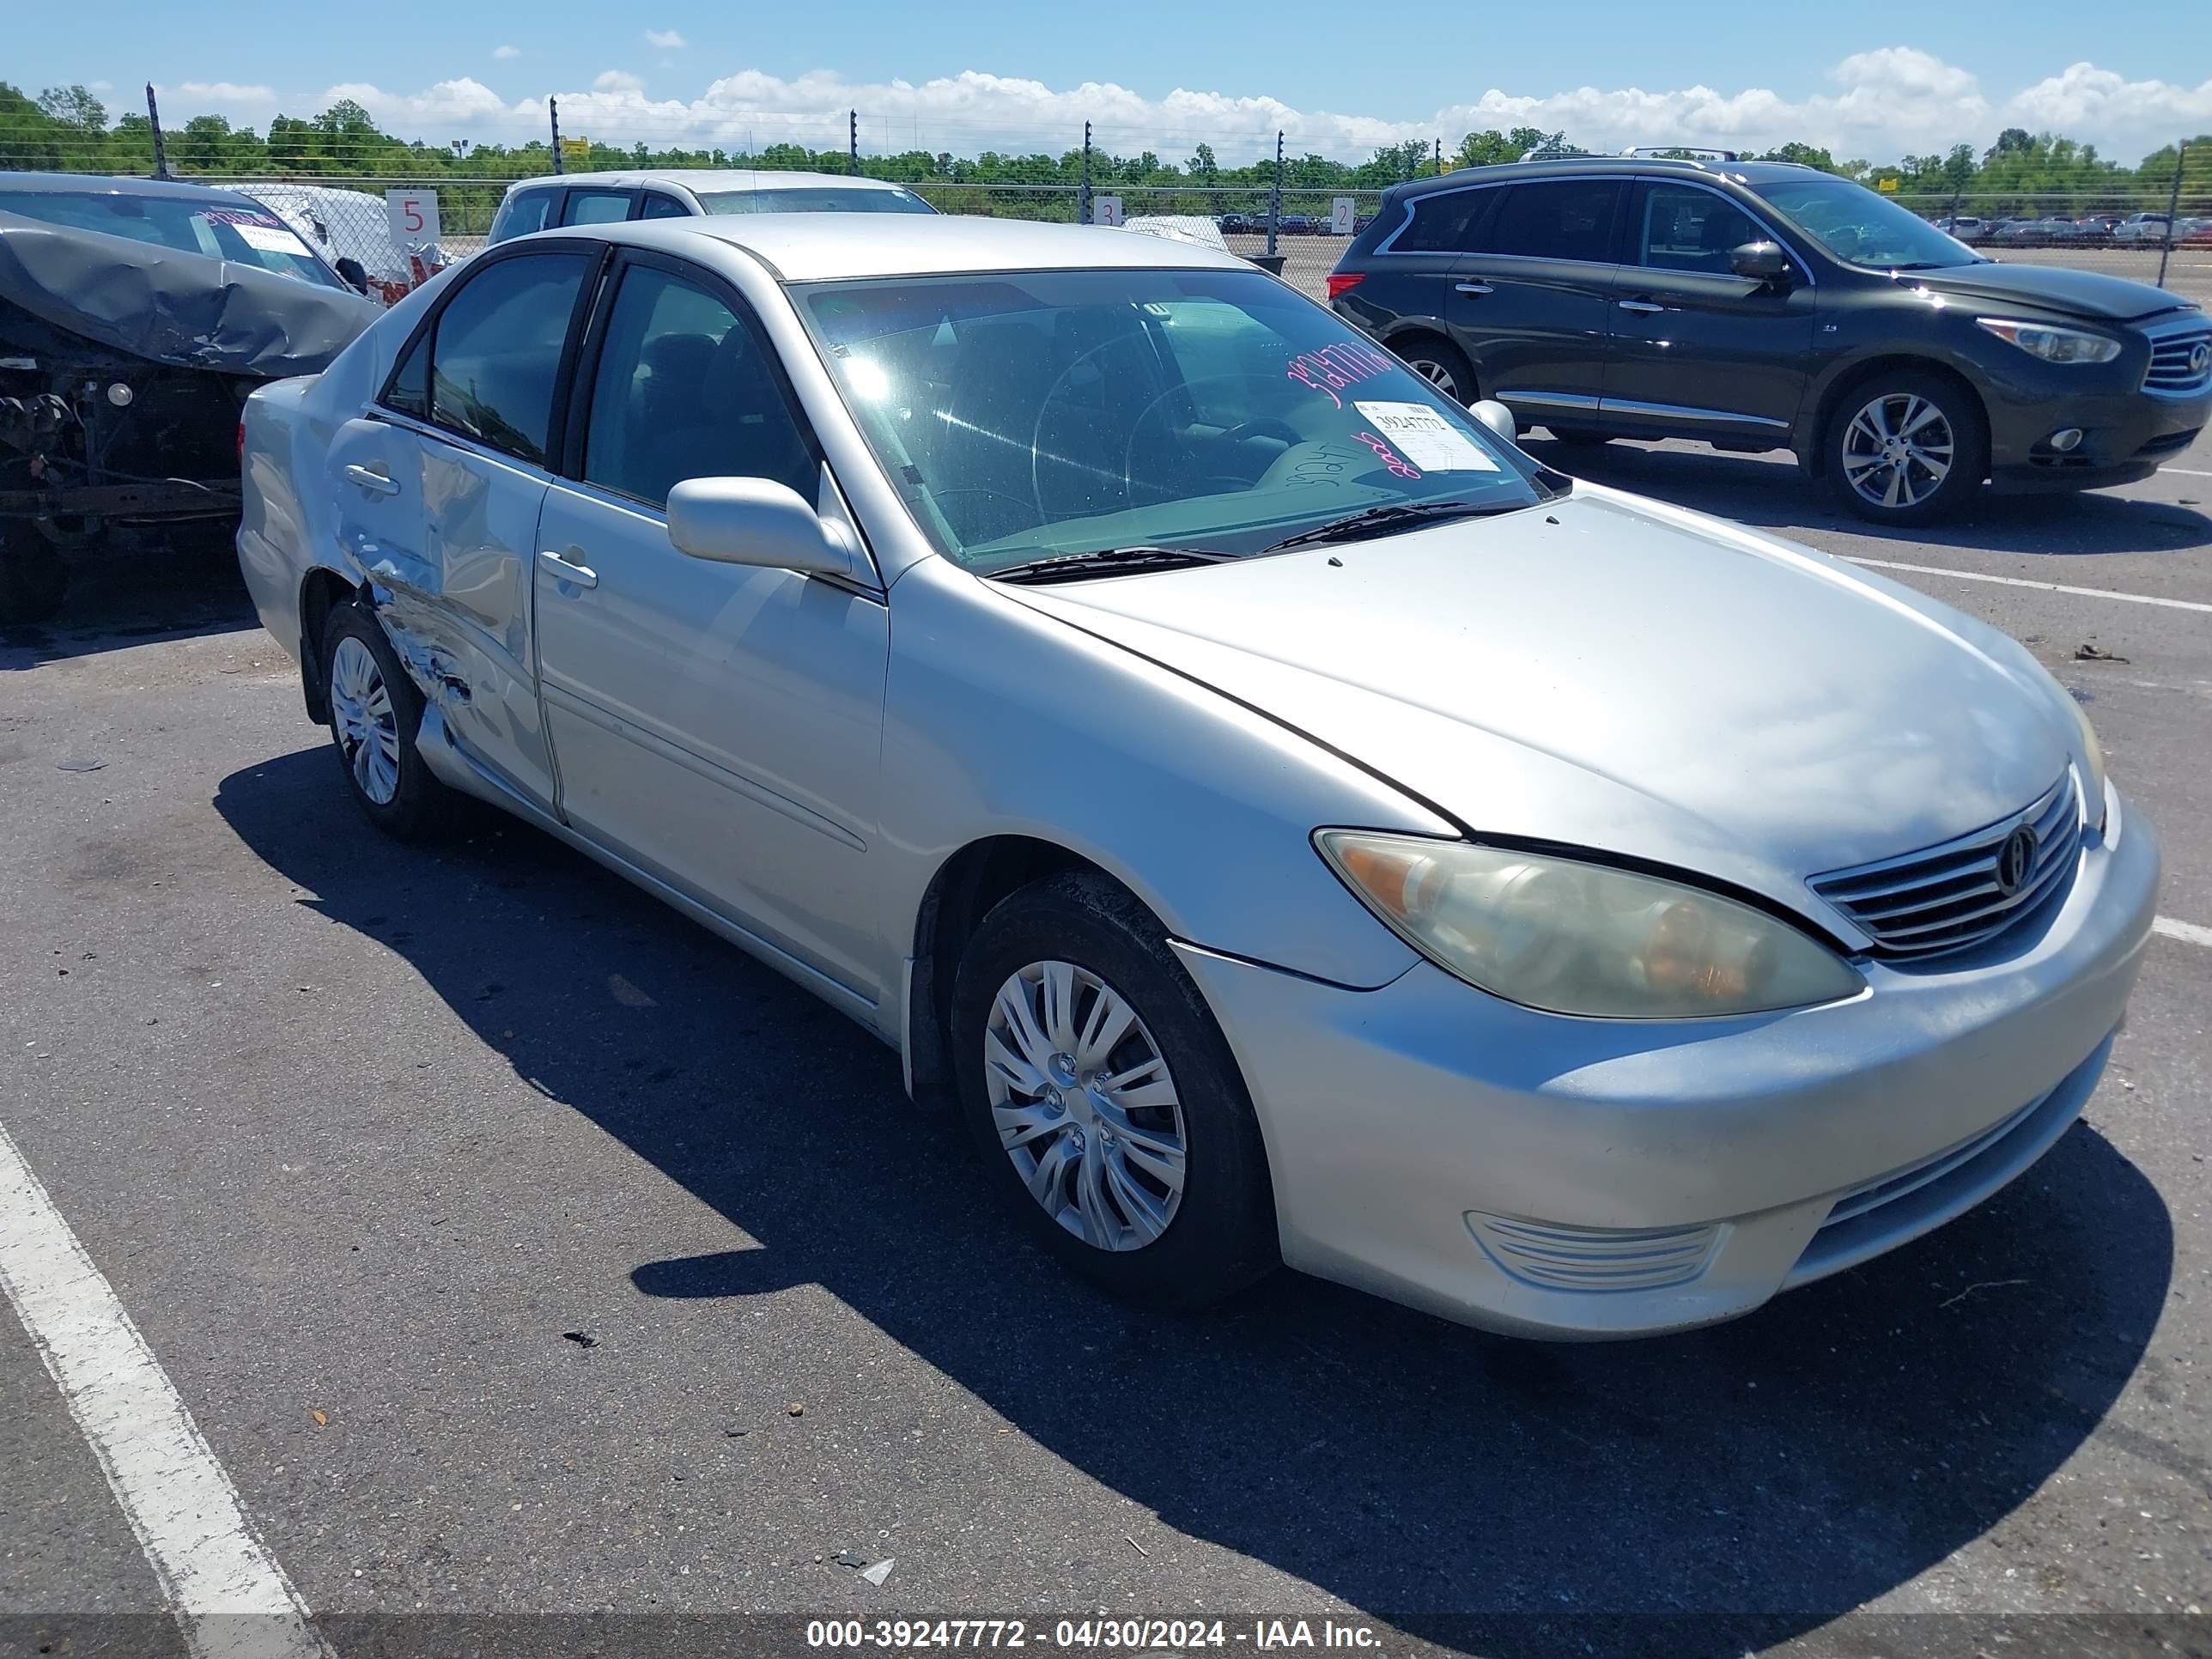
[[[794,290],[947,557],[1248,555],[1374,507],[1533,507],[1542,471],[1256,270],[907,276]]]

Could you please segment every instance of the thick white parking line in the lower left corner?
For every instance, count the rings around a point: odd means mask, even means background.
[[[0,1290],[100,1458],[197,1659],[334,1659],[192,1413],[4,1126]]]

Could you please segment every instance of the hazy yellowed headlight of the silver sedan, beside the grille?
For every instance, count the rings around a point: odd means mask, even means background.
[[[1407,945],[1531,1009],[1697,1020],[1836,1002],[1865,987],[1787,922],[1657,876],[1367,830],[1323,830],[1314,845]]]

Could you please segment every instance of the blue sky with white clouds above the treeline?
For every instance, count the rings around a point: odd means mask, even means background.
[[[911,0],[774,13],[703,0],[232,0],[217,27],[173,0],[106,0],[97,27],[91,15],[18,9],[7,77],[31,91],[108,82],[113,106],[155,80],[179,113],[257,124],[312,113],[345,86],[422,137],[524,135],[540,122],[533,100],[560,93],[615,139],[737,142],[750,122],[759,142],[785,128],[827,142],[834,111],[858,104],[867,148],[931,150],[1062,148],[1084,111],[1110,148],[1161,155],[1194,137],[1250,148],[1274,126],[1332,153],[1438,128],[1449,146],[1467,126],[1526,119],[1590,144],[1807,137],[1874,159],[1989,144],[2004,124],[2062,126],[2135,159],[2212,128],[2203,0],[2132,0],[2124,27],[2101,29],[2088,18],[2112,13],[2057,0],[2013,0],[2002,27],[1984,7],[1847,13],[1874,31],[1849,38],[1832,9],[1785,0],[1387,13],[1318,0],[969,13]],[[1115,91],[1086,95],[1093,82]]]

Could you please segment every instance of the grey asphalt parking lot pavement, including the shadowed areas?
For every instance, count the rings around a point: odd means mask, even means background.
[[[115,562],[0,637],[0,1126],[332,1650],[1099,1610],[1400,1652],[2205,1650],[2212,445],[1911,540],[1772,458],[1531,449],[2008,628],[2166,845],[2172,931],[2081,1126],[1668,1340],[1290,1274],[1117,1307],[801,991],[520,825],[376,838],[221,557]],[[177,1650],[4,1312],[0,1473],[0,1655]]]

